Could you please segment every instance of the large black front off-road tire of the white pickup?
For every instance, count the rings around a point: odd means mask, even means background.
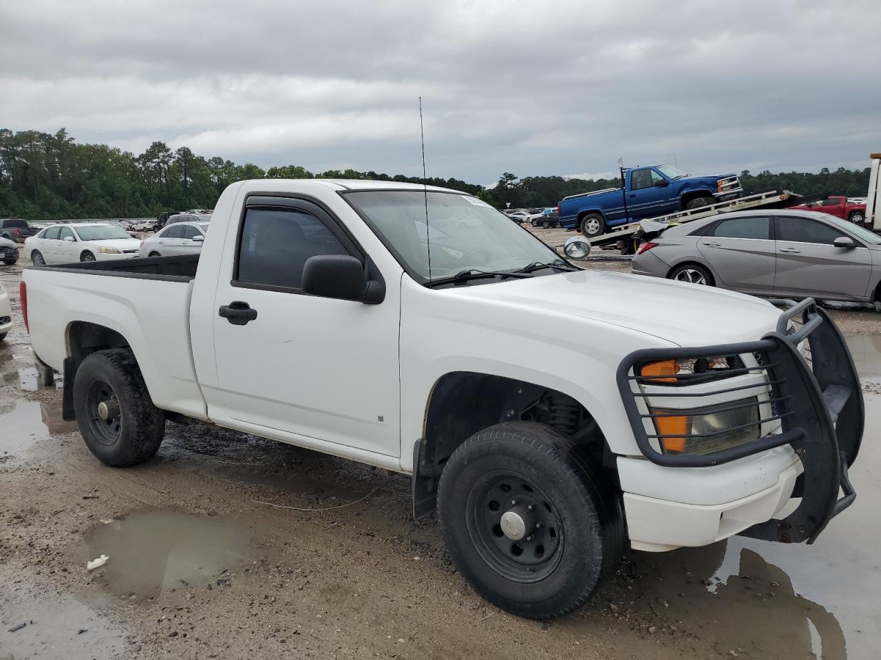
[[[536,527],[530,533],[544,533],[544,539],[550,539],[550,525],[559,524],[559,543],[548,558],[555,563],[534,568],[535,576],[524,568],[512,577],[490,556],[498,551],[487,554],[481,532],[474,529],[476,520],[492,516],[479,506],[484,499],[474,497],[474,490],[488,480],[507,480],[507,474],[533,484],[534,492],[529,493],[542,502],[536,509],[548,520],[541,530]],[[513,499],[502,503],[502,513],[517,501],[517,493],[529,496],[521,488],[507,493]],[[489,510],[497,510],[494,503],[489,502]],[[441,473],[438,517],[449,554],[465,579],[493,605],[529,619],[552,619],[582,605],[616,565],[624,542],[615,491],[565,436],[536,422],[497,424],[456,448]],[[492,534],[500,544],[507,543],[495,527]]]

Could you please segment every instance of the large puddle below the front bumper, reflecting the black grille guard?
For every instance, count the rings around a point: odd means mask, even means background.
[[[670,553],[630,553],[642,576],[633,586],[633,607],[646,604],[658,620],[681,621],[679,627],[714,641],[723,655],[877,657],[879,425],[881,397],[868,395],[866,434],[850,470],[856,501],[812,546],[734,537]]]

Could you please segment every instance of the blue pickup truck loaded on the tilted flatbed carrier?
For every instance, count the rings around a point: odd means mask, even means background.
[[[738,197],[743,188],[734,173],[692,177],[673,165],[621,168],[623,188],[573,194],[559,202],[559,225],[588,238],[618,224],[696,209]]]

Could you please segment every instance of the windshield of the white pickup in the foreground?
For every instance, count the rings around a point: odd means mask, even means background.
[[[371,190],[344,196],[420,282],[465,270],[515,270],[537,262],[562,263],[559,254],[529,231],[468,194]]]

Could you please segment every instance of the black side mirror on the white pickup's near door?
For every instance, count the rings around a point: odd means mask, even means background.
[[[303,291],[312,296],[380,304],[385,283],[368,281],[361,262],[348,254],[320,254],[303,266]]]

